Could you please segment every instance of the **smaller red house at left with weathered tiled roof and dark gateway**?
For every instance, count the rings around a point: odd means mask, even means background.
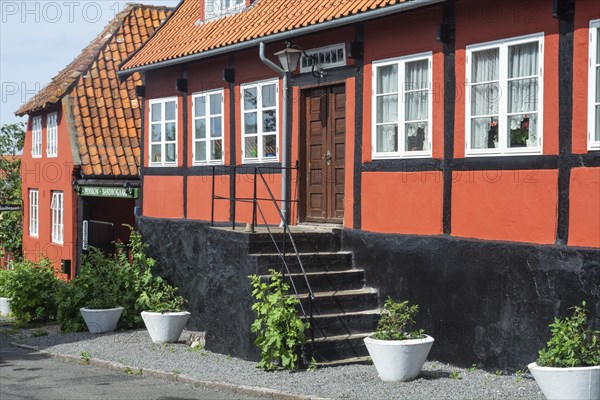
[[[21,164],[23,253],[74,276],[88,246],[128,239],[139,186],[140,74],[119,81],[119,63],[169,14],[128,5],[16,115],[28,115]]]

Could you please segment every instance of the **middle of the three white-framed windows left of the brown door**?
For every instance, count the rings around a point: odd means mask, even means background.
[[[221,95],[221,110],[219,114],[211,114],[210,113],[210,96],[211,95]],[[203,117],[196,117],[196,99],[205,98],[205,110]],[[225,160],[225,97],[223,93],[223,89],[209,90],[205,92],[194,93],[192,95],[192,160],[194,165],[207,165],[207,164],[223,164],[223,160]],[[221,118],[221,136],[213,137],[212,136],[212,125],[210,124],[211,118]],[[206,136],[204,139],[196,139],[196,121],[204,119],[206,121]],[[211,160],[211,142],[221,140],[222,150],[221,150],[221,158],[219,160]],[[196,143],[206,142],[206,154],[204,160],[196,160]]]

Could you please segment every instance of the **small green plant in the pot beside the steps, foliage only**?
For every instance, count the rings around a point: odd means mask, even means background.
[[[379,340],[407,340],[423,338],[423,330],[407,331],[409,326],[415,324],[415,316],[419,313],[419,306],[409,306],[408,301],[400,303],[388,297],[381,310],[381,318],[377,331],[373,334]]]

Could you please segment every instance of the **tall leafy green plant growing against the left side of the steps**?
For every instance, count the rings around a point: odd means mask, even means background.
[[[299,350],[306,343],[304,331],[309,328],[297,315],[298,299],[288,295],[289,285],[281,274],[269,270],[271,279],[265,283],[258,275],[251,275],[252,296],[256,302],[252,310],[256,320],[250,330],[256,333],[255,344],[260,349],[258,368],[273,371],[281,367],[296,370]]]

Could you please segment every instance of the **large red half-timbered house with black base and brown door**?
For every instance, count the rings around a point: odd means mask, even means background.
[[[281,249],[227,226],[277,225],[270,192],[321,361],[364,356],[388,295],[454,363],[520,368],[584,299],[600,326],[599,32],[584,0],[183,0],[119,74],[137,226],[207,347],[256,356],[247,275]]]

